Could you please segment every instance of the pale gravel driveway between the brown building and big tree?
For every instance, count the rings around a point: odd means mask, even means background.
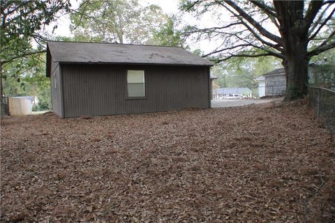
[[[252,104],[262,104],[267,102],[272,102],[278,100],[278,98],[271,99],[247,99],[247,100],[224,100],[224,99],[214,99],[211,100],[211,107],[237,107]]]

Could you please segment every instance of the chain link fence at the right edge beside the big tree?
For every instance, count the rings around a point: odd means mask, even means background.
[[[325,128],[335,134],[335,91],[320,87],[309,88],[308,108],[324,121]]]

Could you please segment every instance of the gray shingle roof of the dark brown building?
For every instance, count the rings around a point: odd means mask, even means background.
[[[214,66],[181,47],[77,42],[47,42],[47,47],[57,62]]]

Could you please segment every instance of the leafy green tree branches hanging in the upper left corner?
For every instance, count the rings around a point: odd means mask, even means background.
[[[34,49],[31,42],[36,40],[40,42],[43,37],[39,35],[39,31],[52,21],[57,20],[57,16],[62,11],[69,11],[70,3],[68,0],[26,0],[13,1],[1,0],[1,95],[3,95],[2,79],[13,77],[20,81],[20,70],[22,66],[26,66],[20,60],[34,54],[44,53],[45,49],[37,47]],[[4,66],[8,66],[8,70],[13,69],[15,64],[15,73],[3,72]],[[31,63],[31,67],[35,64]],[[17,71],[19,70],[19,71]],[[10,76],[8,76],[10,75]]]

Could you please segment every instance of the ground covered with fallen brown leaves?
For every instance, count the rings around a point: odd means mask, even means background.
[[[1,222],[333,222],[306,105],[1,120]]]

